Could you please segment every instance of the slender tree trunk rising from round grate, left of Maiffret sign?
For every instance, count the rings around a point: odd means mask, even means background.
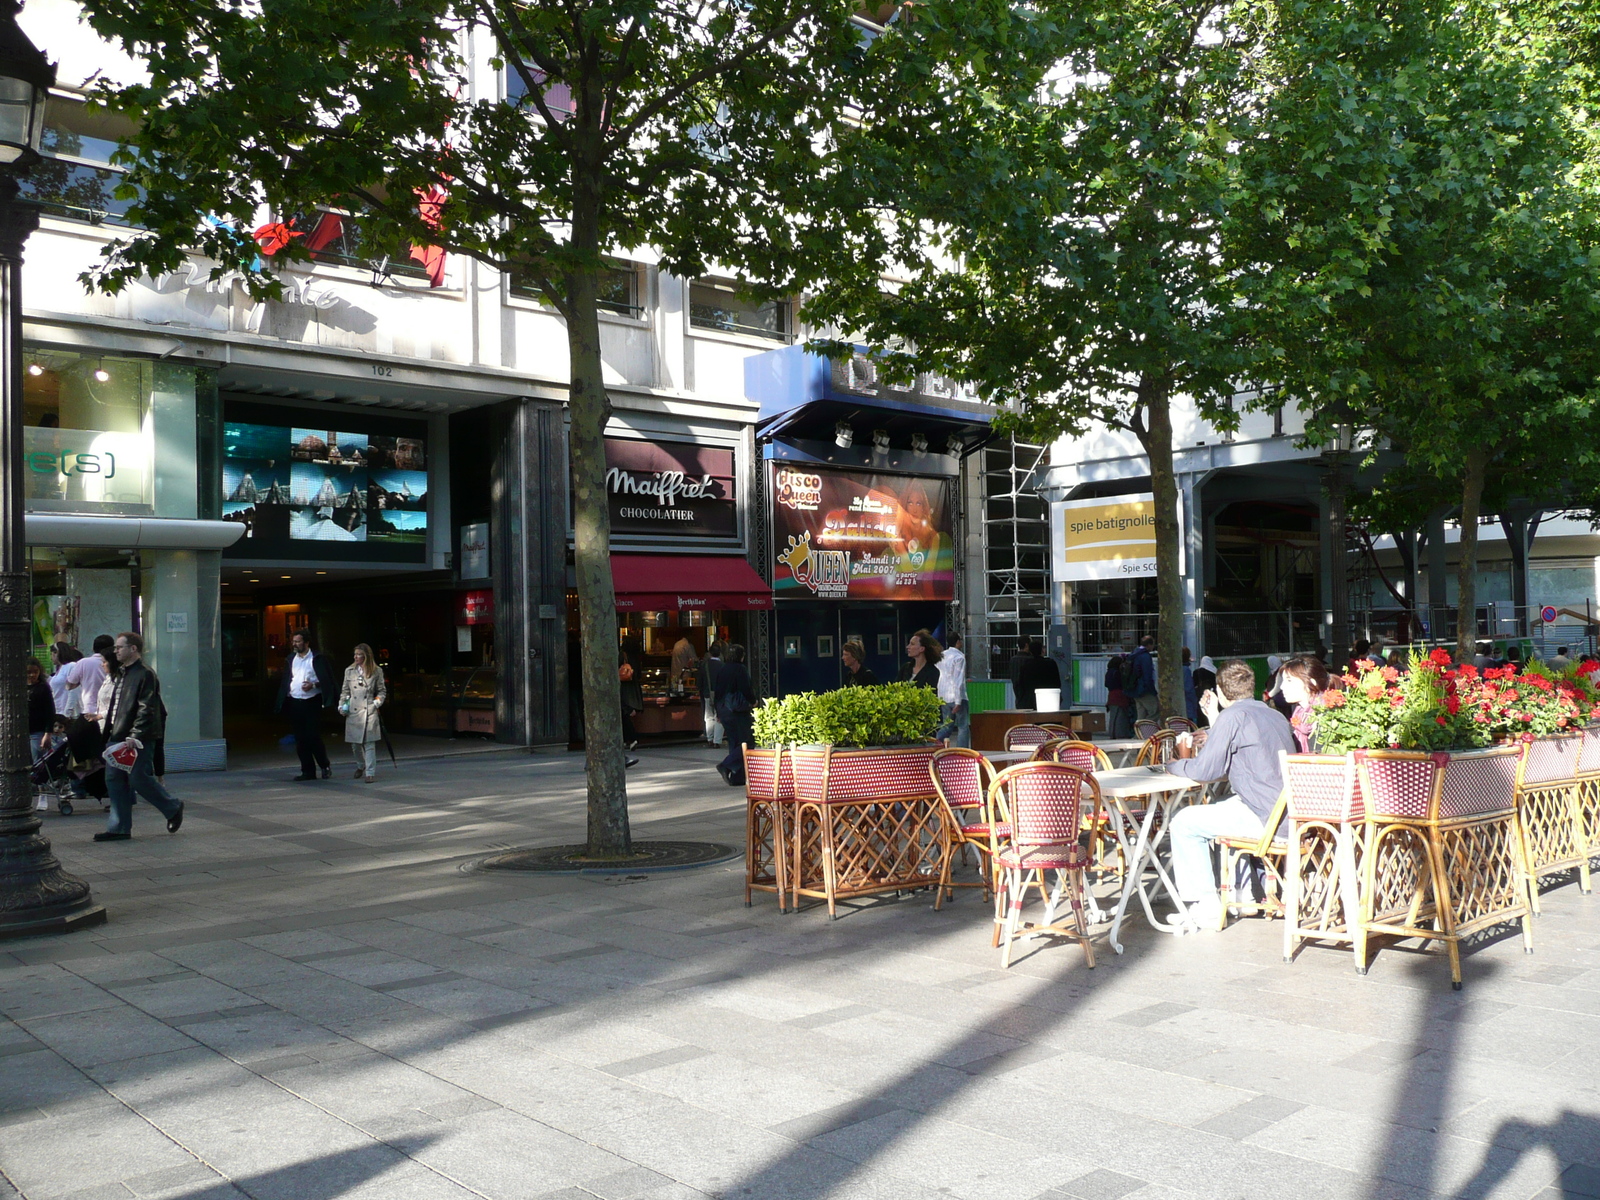
[[[595,205],[574,205],[573,250],[598,256]],[[611,400],[600,365],[598,278],[573,270],[566,278],[571,354],[573,536],[578,570],[579,661],[584,686],[584,774],[589,781],[589,854],[632,853],[627,779],[622,762],[621,682],[618,678],[616,594],[611,587],[611,510],[605,490],[605,426]]]

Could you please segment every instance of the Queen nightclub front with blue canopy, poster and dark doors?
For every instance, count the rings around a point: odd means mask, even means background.
[[[770,693],[840,686],[840,650],[859,642],[880,682],[899,678],[920,629],[971,635],[966,581],[981,579],[981,538],[966,536],[970,456],[989,411],[941,381],[880,386],[870,358],[830,363],[802,347],[752,362],[760,405],[773,582]]]

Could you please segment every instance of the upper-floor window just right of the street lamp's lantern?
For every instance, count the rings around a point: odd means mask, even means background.
[[[139,197],[117,197],[126,171],[110,158],[133,131],[133,122],[117,112],[51,93],[38,146],[43,162],[22,176],[22,197],[51,216],[93,226],[128,224],[126,213]]]

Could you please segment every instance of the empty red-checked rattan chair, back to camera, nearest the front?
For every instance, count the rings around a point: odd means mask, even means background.
[[[1088,771],[1066,763],[1016,763],[989,784],[989,810],[995,819],[994,859],[998,886],[995,918],[1003,914],[1000,966],[1011,965],[1018,938],[1051,934],[1072,938],[1083,947],[1083,957],[1094,966],[1094,946],[1085,915],[1086,888],[1083,872],[1090,866],[1088,851],[1078,845],[1083,819],[1085,789],[1099,805],[1099,786]],[[1054,872],[1056,886],[1046,898],[1045,920],[1022,923],[1022,901],[1030,878]],[[1062,899],[1072,912],[1070,925],[1056,920]]]

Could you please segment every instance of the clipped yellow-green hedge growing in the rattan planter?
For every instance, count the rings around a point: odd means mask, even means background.
[[[755,710],[757,746],[904,746],[939,728],[939,696],[915,683],[802,691]]]

